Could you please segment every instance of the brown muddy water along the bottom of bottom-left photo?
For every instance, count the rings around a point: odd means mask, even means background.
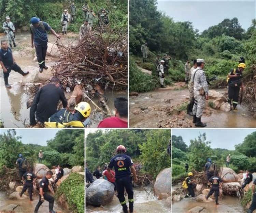
[[[30,213],[34,212],[35,206],[37,206],[38,203],[38,196],[33,196],[33,201],[30,203],[29,198],[24,200],[9,200],[4,192],[0,192],[0,209],[10,205],[15,204],[19,205],[23,208],[23,213]],[[58,203],[54,202],[54,208],[55,211],[58,211],[59,213],[69,213],[69,211],[63,209],[61,206],[58,205]],[[49,212],[49,203],[47,201],[43,202],[42,206],[39,208],[38,213],[46,213]]]

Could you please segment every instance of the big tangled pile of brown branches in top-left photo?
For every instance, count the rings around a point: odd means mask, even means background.
[[[128,85],[127,32],[115,32],[109,25],[88,32],[76,45],[58,40],[60,61],[53,69],[64,88],[71,91],[100,83],[104,89],[126,89]]]

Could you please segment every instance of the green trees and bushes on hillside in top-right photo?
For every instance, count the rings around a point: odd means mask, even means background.
[[[148,61],[142,63],[140,47],[145,42],[148,43],[150,53]],[[250,80],[253,78],[252,65],[256,64],[256,19],[252,20],[247,31],[234,17],[224,19],[216,26],[209,26],[200,34],[193,23],[174,22],[173,18],[157,11],[157,0],[130,0],[129,48],[130,58],[136,59],[139,66],[150,68],[151,71],[156,70],[156,56],[162,57],[168,53],[172,59],[169,61],[169,76],[166,75],[165,84],[184,81],[186,60],[197,58],[206,61],[205,73],[209,78],[218,76],[218,80],[213,82],[215,86],[226,84],[226,76],[231,69],[237,67],[240,56],[244,56],[244,79]],[[133,80],[135,77],[129,76],[130,91],[141,92],[140,85]],[[145,84],[153,81],[150,78],[143,80]],[[158,80],[156,75],[154,80]]]

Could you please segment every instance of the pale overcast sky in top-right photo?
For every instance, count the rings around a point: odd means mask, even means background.
[[[256,18],[256,0],[158,0],[158,10],[174,21],[190,21],[202,32],[225,18],[238,18],[245,30]]]

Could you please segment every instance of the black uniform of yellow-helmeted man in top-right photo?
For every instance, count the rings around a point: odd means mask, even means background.
[[[233,104],[233,108],[236,109],[243,76],[242,72],[238,68],[236,70],[232,69],[230,71],[231,76],[237,75],[237,77],[230,78],[228,80],[228,102]]]

